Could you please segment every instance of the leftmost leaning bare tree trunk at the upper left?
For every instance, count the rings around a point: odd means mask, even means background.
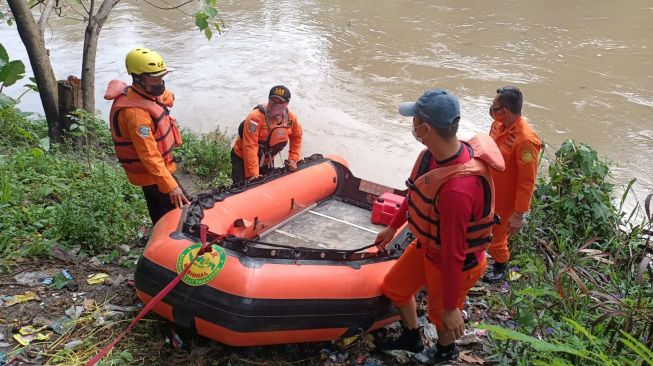
[[[7,0],[11,13],[16,20],[16,27],[20,39],[25,45],[29,62],[34,71],[36,85],[39,87],[41,104],[48,120],[48,135],[53,142],[61,141],[61,126],[59,125],[57,80],[52,71],[50,56],[45,49],[34,16],[25,0]]]

